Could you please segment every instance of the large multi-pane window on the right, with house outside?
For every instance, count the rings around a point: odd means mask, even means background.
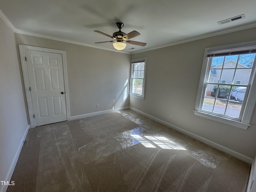
[[[256,42],[206,48],[204,55],[194,114],[247,129],[256,102]]]

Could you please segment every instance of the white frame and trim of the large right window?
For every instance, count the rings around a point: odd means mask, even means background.
[[[241,120],[234,120],[234,119],[226,118],[223,116],[209,114],[207,112],[202,112],[202,110],[201,110],[202,100],[204,98],[203,95],[205,94],[204,86],[206,84],[206,78],[208,76],[209,68],[211,67],[210,64],[208,64],[208,58],[207,58],[208,52],[209,51],[218,51],[218,50],[220,51],[220,50],[225,50],[225,49],[242,48],[242,47],[246,47],[246,46],[256,46],[256,41],[231,44],[231,45],[226,45],[226,46],[211,47],[211,48],[205,49],[202,70],[201,70],[201,74],[200,74],[200,81],[199,81],[199,85],[198,85],[198,92],[197,92],[197,97],[196,97],[196,105],[195,105],[195,109],[194,109],[194,115],[247,130],[247,128],[250,126],[250,120],[251,120],[254,106],[256,103],[256,97],[254,96],[256,94],[256,77],[255,77],[256,76],[256,66],[255,66],[256,59],[254,59],[254,65],[253,65],[252,72],[251,72],[252,81],[251,81],[250,86],[248,86],[249,90],[246,93],[246,95],[248,95],[248,96],[247,96],[247,100],[245,101],[246,103],[244,105],[244,111],[243,111]],[[245,95],[245,97],[246,97],[246,95]]]

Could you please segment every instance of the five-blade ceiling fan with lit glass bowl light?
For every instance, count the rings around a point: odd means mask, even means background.
[[[140,35],[139,32],[137,31],[132,31],[128,34],[124,33],[121,31],[121,29],[123,28],[124,24],[123,23],[120,23],[120,22],[117,22],[116,23],[116,26],[118,27],[119,31],[118,32],[114,32],[113,33],[113,36],[110,36],[106,33],[103,33],[103,32],[100,32],[100,31],[97,31],[97,30],[94,30],[95,32],[99,33],[99,34],[102,34],[102,35],[105,35],[107,37],[110,37],[114,40],[112,41],[103,41],[103,42],[96,42],[96,43],[108,43],[108,42],[113,42],[113,46],[115,49],[117,50],[123,50],[125,47],[126,47],[126,43],[129,43],[129,44],[133,44],[133,45],[138,45],[138,46],[145,46],[146,43],[142,43],[142,42],[137,42],[137,41],[131,41],[130,39],[131,38],[134,38],[138,35]]]

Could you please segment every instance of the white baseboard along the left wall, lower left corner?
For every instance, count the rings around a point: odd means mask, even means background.
[[[25,130],[25,132],[24,132],[24,134],[23,134],[23,136],[22,136],[22,139],[21,139],[21,141],[20,141],[19,148],[18,148],[18,150],[17,150],[17,152],[16,152],[16,154],[15,154],[14,159],[12,160],[12,163],[11,163],[11,165],[10,165],[10,168],[9,168],[7,174],[6,174],[6,178],[5,178],[4,181],[10,181],[10,180],[12,179],[12,174],[13,174],[13,172],[14,172],[15,166],[16,166],[17,161],[18,161],[18,158],[19,158],[19,156],[20,156],[20,152],[21,152],[22,147],[23,147],[23,142],[24,142],[24,140],[26,139],[26,136],[27,136],[27,134],[28,134],[29,128],[30,128],[30,125],[27,126],[27,128],[26,128],[26,130]],[[8,185],[0,185],[0,192],[6,192],[7,188],[8,188]]]

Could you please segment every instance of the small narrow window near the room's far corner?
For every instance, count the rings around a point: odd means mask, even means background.
[[[144,99],[146,58],[131,61],[130,96]]]

